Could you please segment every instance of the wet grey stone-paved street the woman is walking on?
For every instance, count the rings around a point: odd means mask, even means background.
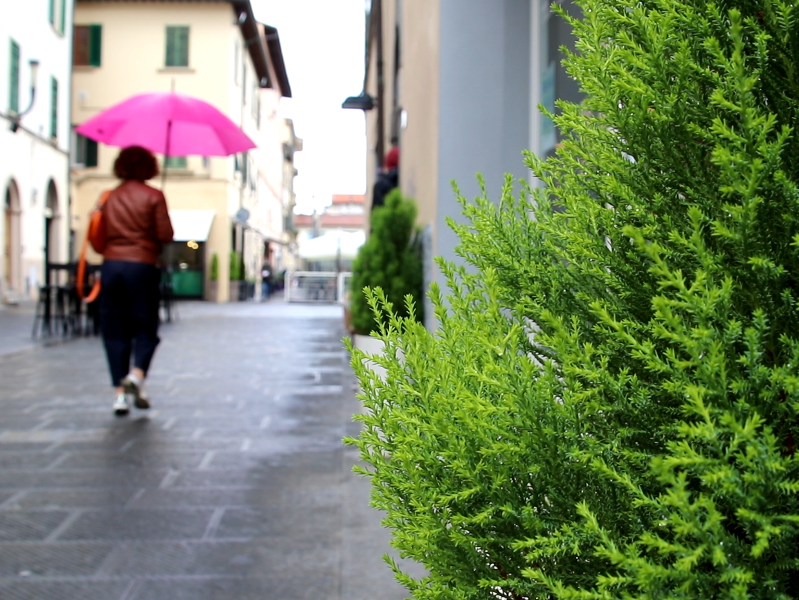
[[[125,418],[99,339],[0,347],[0,598],[404,598],[341,443],[360,409],[341,309],[178,317],[153,408]]]

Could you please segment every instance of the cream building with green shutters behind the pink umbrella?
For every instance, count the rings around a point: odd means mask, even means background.
[[[164,256],[178,296],[237,300],[244,286],[231,270],[260,289],[253,284],[270,244],[283,241],[278,108],[291,89],[277,30],[255,21],[249,0],[78,0],[73,63],[73,126],[129,96],[172,90],[214,105],[255,142],[235,156],[166,160],[176,238]],[[118,183],[118,152],[75,137],[78,236],[102,191]]]

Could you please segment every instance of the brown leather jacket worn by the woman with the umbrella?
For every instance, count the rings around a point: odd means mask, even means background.
[[[174,235],[164,194],[141,181],[125,181],[112,190],[103,217],[105,260],[154,265]]]

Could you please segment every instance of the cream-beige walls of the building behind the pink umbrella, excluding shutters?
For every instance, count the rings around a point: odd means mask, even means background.
[[[216,253],[219,260],[217,299],[227,301],[233,215],[241,207],[247,208],[251,215],[248,221],[251,229],[246,234],[244,248],[248,276],[260,276],[263,239],[281,235],[275,228],[278,224],[282,228],[282,222],[271,217],[282,207],[279,192],[282,151],[277,119],[280,97],[273,90],[259,89],[256,94],[256,101],[261,104],[259,127],[253,111],[253,82],[257,76],[230,4],[79,2],[75,23],[101,24],[103,42],[100,67],[74,69],[73,124],[82,123],[134,94],[168,91],[174,81],[176,92],[213,104],[258,146],[250,152],[249,164],[257,181],[255,190],[244,184],[240,173],[235,172],[232,157],[212,157],[204,162],[200,156],[188,157],[185,170],[170,169],[164,190],[171,209],[215,211],[206,244],[206,265]],[[167,25],[190,27],[187,68],[164,67]],[[96,168],[73,170],[73,225],[79,240],[85,235],[88,214],[100,193],[118,183],[111,175],[118,152],[118,148],[101,145]],[[160,178],[150,183],[159,187]],[[206,293],[209,287],[206,285]]]

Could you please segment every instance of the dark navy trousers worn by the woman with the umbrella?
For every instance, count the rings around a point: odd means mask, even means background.
[[[100,293],[100,326],[111,384],[119,387],[133,366],[145,374],[158,338],[158,284],[161,271],[154,265],[107,260],[103,262]]]

